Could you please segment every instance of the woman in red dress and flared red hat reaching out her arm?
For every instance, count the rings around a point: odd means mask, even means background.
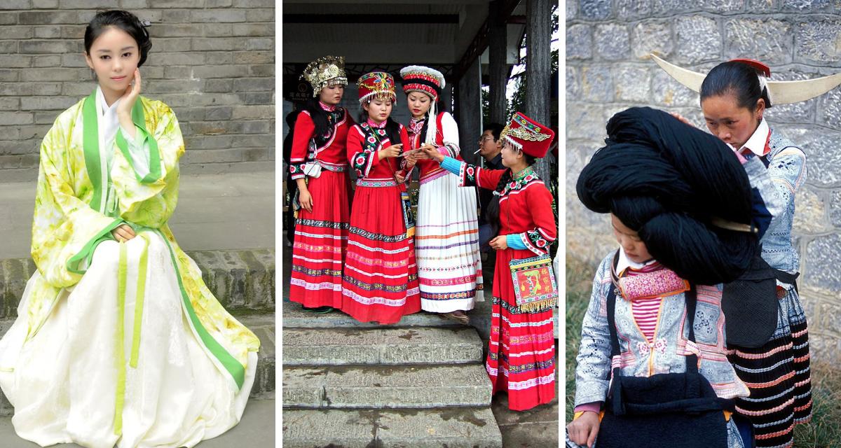
[[[532,170],[546,155],[554,132],[522,113],[503,129],[502,163],[508,169],[485,170],[424,151],[447,171],[458,174],[460,185],[495,190],[489,222],[498,230],[490,245],[496,250],[490,342],[485,368],[494,393],[508,391],[508,406],[521,411],[555,398],[555,345],[552,308],[557,299],[518,305],[509,262],[542,256],[558,234],[552,213],[552,193]]]

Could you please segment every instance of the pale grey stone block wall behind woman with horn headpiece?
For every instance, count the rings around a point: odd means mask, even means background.
[[[772,80],[841,72],[841,3],[831,0],[567,0],[567,246],[595,263],[614,248],[608,220],[587,211],[575,182],[604,145],[614,113],[651,106],[706,129],[698,95],[648,58],[706,72],[751,57]],[[841,88],[805,103],[775,106],[769,123],[807,154],[808,178],[796,197],[795,245],[812,350],[841,361]],[[595,248],[595,249],[594,249]]]

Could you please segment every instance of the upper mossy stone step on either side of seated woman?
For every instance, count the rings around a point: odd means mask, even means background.
[[[231,313],[274,311],[273,249],[196,250],[187,255],[196,261],[210,291]],[[18,315],[18,303],[34,271],[31,258],[0,260],[0,319]]]

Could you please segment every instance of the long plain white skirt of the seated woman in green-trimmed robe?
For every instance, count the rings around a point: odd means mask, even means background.
[[[29,280],[19,318],[0,340],[0,387],[14,407],[12,423],[20,437],[41,446],[192,447],[240,421],[257,353],[249,353],[245,382],[236,387],[185,317],[167,246],[158,235],[142,235],[149,244],[139,333],[134,323],[145,245],[140,237],[125,243],[122,335],[116,330],[118,243],[98,246],[82,280],[61,291],[45,324],[26,340],[27,307],[40,274]]]

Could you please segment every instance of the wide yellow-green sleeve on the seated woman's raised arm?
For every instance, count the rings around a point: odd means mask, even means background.
[[[122,129],[117,132],[111,181],[119,217],[130,224],[158,229],[175,211],[178,160],[184,153],[184,140],[175,113],[166,104],[150,101],[144,113],[147,119],[135,121],[135,140],[126,139]],[[140,152],[145,154],[138,156]]]

